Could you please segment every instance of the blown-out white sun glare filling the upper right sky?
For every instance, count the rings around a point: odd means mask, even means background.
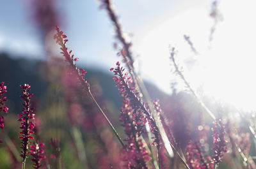
[[[171,70],[168,45],[177,48],[177,61],[193,86],[204,94],[231,103],[244,110],[256,110],[255,40],[253,1],[225,1],[220,4],[223,21],[216,26],[213,40],[209,34],[213,22],[209,9],[198,6],[169,18],[148,31],[136,48],[141,54],[142,75],[170,92],[170,82],[177,80]],[[184,40],[193,42],[198,55]],[[159,76],[161,75],[161,76]]]

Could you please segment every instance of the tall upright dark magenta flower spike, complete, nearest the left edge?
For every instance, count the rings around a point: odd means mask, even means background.
[[[30,92],[30,85],[24,84],[20,85],[22,88],[22,96],[20,98],[24,99],[23,106],[22,108],[22,113],[19,114],[19,119],[18,121],[21,121],[21,127],[22,131],[20,131],[21,136],[19,137],[22,139],[21,141],[21,154],[20,156],[23,159],[23,162],[25,161],[26,157],[28,156],[28,144],[29,144],[29,139],[33,138],[31,136],[32,133],[34,133],[33,129],[35,128],[35,124],[31,122],[32,119],[35,119],[35,114],[33,114],[33,110],[31,109],[31,96],[33,94],[29,94]]]

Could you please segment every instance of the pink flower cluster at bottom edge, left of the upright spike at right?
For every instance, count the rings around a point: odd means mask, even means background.
[[[202,150],[202,144],[190,141],[186,147],[189,168],[193,169],[213,169],[211,157],[207,157]]]

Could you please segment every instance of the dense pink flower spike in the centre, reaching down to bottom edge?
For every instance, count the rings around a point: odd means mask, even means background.
[[[144,127],[147,119],[144,117],[145,105],[135,93],[131,77],[127,77],[128,73],[124,73],[124,68],[120,67],[120,62],[116,62],[116,68],[111,68],[115,73],[113,80],[117,82],[118,89],[122,94],[123,105],[120,108],[120,121],[125,128],[127,138],[125,141],[125,149],[127,150],[126,168],[148,168],[146,162],[150,160],[148,152],[141,142],[140,136],[145,132]],[[143,108],[141,106],[143,105]]]

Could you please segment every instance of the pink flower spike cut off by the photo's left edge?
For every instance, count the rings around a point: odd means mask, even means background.
[[[3,94],[7,92],[6,89],[7,89],[7,87],[6,87],[6,85],[4,85],[4,82],[1,82],[1,84],[0,84],[0,112],[3,111],[4,113],[7,114],[9,109],[8,109],[8,107],[4,106],[4,102],[6,101],[6,96],[3,96]],[[3,115],[0,116],[0,128],[1,129],[4,128],[4,119],[5,119],[5,117]],[[1,140],[0,140],[0,142],[1,142]]]

